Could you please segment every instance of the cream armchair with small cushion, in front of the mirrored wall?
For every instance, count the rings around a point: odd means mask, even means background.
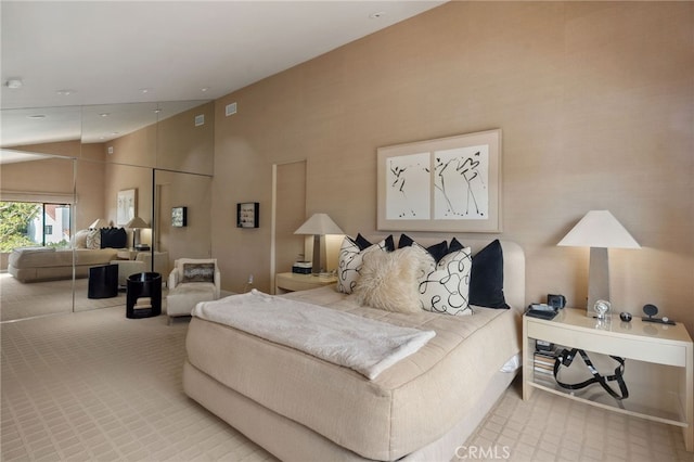
[[[179,258],[169,273],[166,313],[171,318],[190,316],[200,301],[216,300],[221,292],[221,275],[216,258]]]

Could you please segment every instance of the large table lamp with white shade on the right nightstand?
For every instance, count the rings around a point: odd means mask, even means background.
[[[608,210],[590,210],[556,245],[590,247],[588,316],[597,300],[609,301],[608,248],[641,248]]]

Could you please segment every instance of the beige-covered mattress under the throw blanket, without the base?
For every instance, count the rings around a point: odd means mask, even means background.
[[[519,351],[515,310],[476,307],[467,317],[403,315],[360,307],[332,286],[285,296],[436,332],[417,352],[370,381],[243,331],[191,320],[187,349],[194,368],[368,459],[396,460],[442,436]]]

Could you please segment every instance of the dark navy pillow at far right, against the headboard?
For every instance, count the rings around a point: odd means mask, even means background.
[[[503,295],[503,251],[499,240],[473,257],[470,304],[487,308],[510,308]]]

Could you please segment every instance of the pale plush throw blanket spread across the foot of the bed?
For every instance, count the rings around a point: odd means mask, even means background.
[[[193,316],[354,369],[370,380],[436,335],[256,290],[200,303]]]

